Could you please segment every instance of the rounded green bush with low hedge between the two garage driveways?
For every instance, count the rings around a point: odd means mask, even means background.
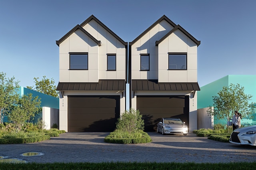
[[[120,144],[151,142],[152,139],[146,132],[143,132],[143,130],[144,120],[142,119],[142,115],[140,115],[140,111],[130,109],[122,113],[116,123],[116,130],[110,132],[110,134],[104,138],[104,142]]]

